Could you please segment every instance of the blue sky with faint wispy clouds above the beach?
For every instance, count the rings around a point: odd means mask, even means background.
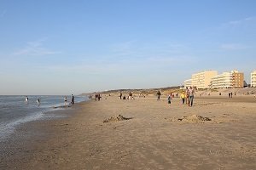
[[[0,0],[0,95],[179,86],[256,69],[254,0]]]

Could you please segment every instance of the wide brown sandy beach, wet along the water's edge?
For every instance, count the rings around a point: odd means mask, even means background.
[[[0,169],[256,169],[256,99],[111,96],[30,122],[1,144]],[[185,119],[184,119],[185,118]],[[206,119],[206,118],[209,118]]]

